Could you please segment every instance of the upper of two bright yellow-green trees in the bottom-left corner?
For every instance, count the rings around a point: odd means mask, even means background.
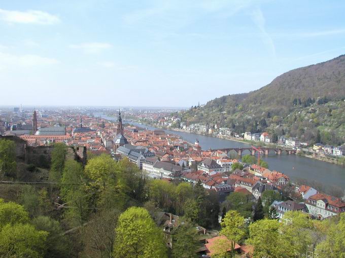
[[[14,225],[16,223],[25,224],[28,222],[28,213],[22,205],[15,202],[4,202],[3,199],[0,199],[0,230],[6,224]]]

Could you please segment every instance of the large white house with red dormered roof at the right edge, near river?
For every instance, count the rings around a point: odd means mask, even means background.
[[[340,198],[323,193],[317,193],[310,196],[305,205],[309,214],[319,220],[336,216],[345,211],[345,202]]]

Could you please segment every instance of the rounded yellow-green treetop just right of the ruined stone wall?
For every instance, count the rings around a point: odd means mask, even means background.
[[[109,177],[115,177],[116,170],[116,161],[107,154],[90,159],[85,166],[85,174],[95,183],[101,183],[103,187],[106,186]]]

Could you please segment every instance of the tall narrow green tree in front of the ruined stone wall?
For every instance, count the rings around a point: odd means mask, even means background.
[[[66,145],[63,143],[54,144],[51,156],[51,166],[49,171],[49,179],[54,182],[60,182],[62,170],[66,157]]]

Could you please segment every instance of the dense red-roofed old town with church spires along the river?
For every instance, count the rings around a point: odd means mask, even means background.
[[[224,206],[233,196],[245,196],[249,205],[256,207],[263,203],[269,216],[280,221],[288,211],[307,214],[308,218],[314,220],[328,219],[345,212],[343,199],[319,192],[307,185],[298,185],[292,182],[284,171],[268,169],[267,164],[262,159],[260,161],[263,154],[260,147],[252,147],[254,155],[241,154],[230,158],[226,150],[203,150],[198,139],[189,143],[178,135],[165,134],[164,130],[148,130],[145,125],[140,127],[126,124],[122,120],[124,111],[121,113],[119,109],[114,110],[115,112],[116,121],[110,121],[90,113],[81,114],[80,110],[33,110],[32,114],[31,110],[22,108],[6,110],[0,114],[2,138],[19,138],[31,147],[52,147],[60,143],[85,148],[90,156],[107,154],[116,161],[128,159],[151,180],[201,186],[209,194],[218,196],[220,206]],[[216,132],[224,134],[226,131],[219,128],[213,131],[213,134]],[[271,142],[271,136],[267,133],[251,135],[247,132],[244,138]],[[286,139],[283,146],[299,145],[296,139]],[[320,147],[318,150],[325,148],[319,145],[314,146],[316,147]],[[267,199],[267,195],[273,197]],[[225,212],[225,206],[223,210],[219,210],[219,223],[222,223]],[[248,212],[245,214],[248,214],[249,219],[252,217]],[[167,246],[173,248],[172,235],[176,230],[174,227],[178,227],[179,216],[164,210],[160,216],[166,217],[166,223],[162,224],[163,232],[167,234]],[[196,251],[203,255],[202,257],[213,255],[214,241],[231,240],[211,229],[198,227],[201,235],[208,235],[203,247]],[[236,243],[234,250],[245,255],[243,257],[253,255],[253,246],[249,244]]]

